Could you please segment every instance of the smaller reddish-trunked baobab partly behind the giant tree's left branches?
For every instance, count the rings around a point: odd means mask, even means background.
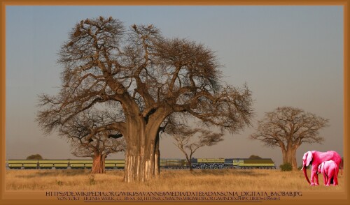
[[[73,155],[92,158],[92,174],[106,173],[107,155],[126,150],[123,135],[111,128],[111,114],[93,109],[74,118],[62,126],[59,135],[71,141]]]

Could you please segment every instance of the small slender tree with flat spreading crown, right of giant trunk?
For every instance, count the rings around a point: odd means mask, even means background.
[[[176,141],[174,144],[186,156],[190,172],[193,171],[191,159],[197,149],[203,146],[213,146],[223,141],[223,133],[214,133],[203,128],[169,126],[167,134],[172,135]]]

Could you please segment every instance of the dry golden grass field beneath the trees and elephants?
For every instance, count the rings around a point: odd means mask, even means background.
[[[265,169],[162,170],[159,179],[146,183],[124,183],[123,170],[90,174],[88,170],[6,170],[6,190],[132,190],[132,191],[228,191],[290,190],[344,191],[344,173],[339,185],[308,185],[302,171]],[[310,176],[310,175],[309,175]]]

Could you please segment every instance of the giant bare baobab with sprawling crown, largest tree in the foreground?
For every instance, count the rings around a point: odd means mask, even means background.
[[[152,24],[125,29],[113,17],[82,20],[58,61],[61,91],[41,96],[40,126],[59,130],[99,104],[123,113],[108,126],[127,142],[127,182],[155,176],[158,132],[170,114],[186,112],[230,132],[251,122],[251,91],[220,82],[214,52],[192,40],[164,38]]]

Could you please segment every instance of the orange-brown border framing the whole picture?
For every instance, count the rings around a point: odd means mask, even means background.
[[[162,1],[162,0],[152,0],[152,1],[140,1],[140,0],[61,0],[61,1],[45,1],[45,0],[36,0],[36,1],[10,1],[10,0],[0,0],[1,1],[1,15],[0,15],[0,204],[48,204],[48,201],[45,199],[43,191],[31,191],[31,192],[10,192],[5,191],[5,158],[6,158],[6,6],[106,6],[106,5],[123,5],[123,6],[343,6],[344,11],[344,178],[345,178],[345,192],[303,192],[302,199],[283,199],[279,201],[283,204],[349,204],[350,202],[350,192],[349,184],[350,180],[348,177],[349,174],[349,125],[350,125],[350,68],[349,68],[349,1],[350,0],[336,0],[336,1],[322,1],[322,0],[286,0],[286,1],[264,1],[264,0],[177,0],[177,1]],[[279,202],[262,202],[264,204],[279,204]],[[50,200],[50,204],[80,204],[84,202],[59,202],[55,200]],[[139,204],[137,202],[116,202],[118,204]],[[181,202],[181,204],[188,204],[186,202]],[[221,202],[225,204],[237,204],[235,202]],[[160,202],[157,204],[176,204],[176,202]],[[193,204],[193,203],[192,203]],[[215,204],[215,202],[208,202],[206,204]],[[247,204],[247,203],[244,203]],[[253,203],[248,203],[253,204]]]

